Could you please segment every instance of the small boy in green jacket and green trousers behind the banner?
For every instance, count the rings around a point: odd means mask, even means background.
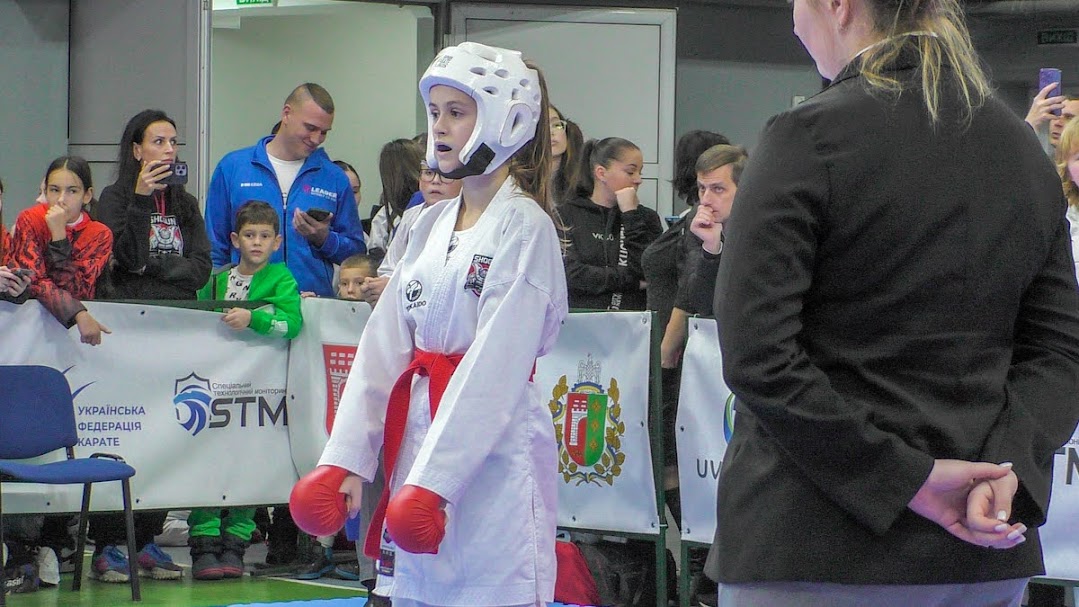
[[[250,328],[261,335],[291,340],[300,332],[300,289],[284,263],[269,263],[281,247],[277,211],[262,201],[248,201],[236,211],[236,231],[232,246],[240,251],[240,263],[226,266],[210,276],[199,291],[200,300],[258,300],[271,304],[247,309],[224,309],[221,320],[236,331]],[[255,530],[254,508],[230,508],[221,520],[221,510],[199,508],[191,511],[191,576],[196,580],[220,580],[244,575],[244,551]]]

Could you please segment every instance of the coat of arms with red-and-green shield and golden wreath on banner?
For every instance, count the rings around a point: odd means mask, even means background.
[[[592,356],[577,363],[577,383],[570,388],[562,375],[551,390],[550,414],[559,442],[558,471],[569,484],[613,485],[622,474],[626,454],[622,436],[626,424],[618,402],[618,381],[611,377],[604,392],[601,365]]]

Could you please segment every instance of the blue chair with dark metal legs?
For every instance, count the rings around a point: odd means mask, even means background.
[[[132,601],[140,601],[138,572],[135,570],[135,519],[132,515],[129,479],[135,469],[117,456],[95,453],[76,458],[79,442],[74,425],[74,403],[67,377],[50,367],[0,365],[0,480],[3,482],[67,485],[82,483],[82,511],[79,514],[79,546],[74,558],[74,582],[82,584],[83,551],[86,548],[86,515],[93,483],[120,481],[124,492],[124,516],[127,522],[127,554],[131,563]],[[15,461],[38,457],[64,449],[67,459],[52,464]],[[0,485],[2,487],[2,485]],[[0,514],[3,491],[0,488]],[[3,523],[0,519],[0,544]],[[0,564],[0,589],[3,588]],[[0,606],[5,605],[0,590]]]

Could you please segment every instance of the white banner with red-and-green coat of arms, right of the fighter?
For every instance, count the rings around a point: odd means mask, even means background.
[[[648,442],[648,313],[571,314],[536,361],[559,445],[558,524],[658,534]]]

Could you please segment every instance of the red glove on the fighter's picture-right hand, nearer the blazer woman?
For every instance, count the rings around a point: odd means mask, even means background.
[[[438,544],[446,537],[441,496],[415,485],[402,486],[386,506],[386,530],[402,550],[438,554]]]

